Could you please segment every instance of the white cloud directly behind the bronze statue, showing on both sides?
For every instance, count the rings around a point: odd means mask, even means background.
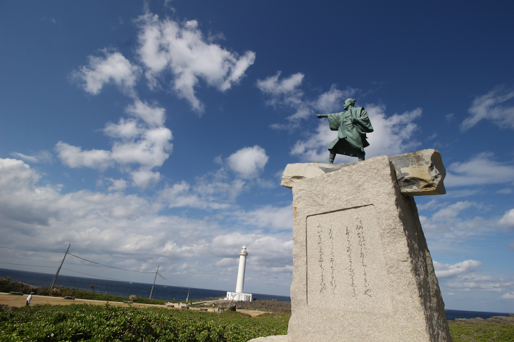
[[[365,105],[374,132],[368,134],[369,147],[366,147],[366,158],[379,155],[401,154],[413,150],[420,143],[413,139],[418,130],[416,119],[421,117],[422,110],[416,108],[410,112],[393,114],[387,117],[384,106]],[[323,119],[322,119],[323,120]],[[292,147],[291,154],[300,157],[305,162],[320,162],[328,159],[327,147],[337,138],[337,131],[330,131],[326,119],[318,124],[315,131],[306,140],[297,141]],[[338,155],[336,162],[354,162],[355,158]]]

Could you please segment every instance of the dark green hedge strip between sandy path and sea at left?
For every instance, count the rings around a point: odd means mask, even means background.
[[[168,301],[163,301],[161,299],[149,299],[142,298],[136,296],[115,296],[113,294],[96,294],[94,292],[82,290],[82,289],[68,289],[68,287],[54,287],[54,289],[49,290],[48,287],[33,287],[32,285],[27,285],[23,282],[15,282],[10,277],[0,277],[0,292],[23,292],[23,294],[30,294],[30,292],[34,292],[34,294],[38,294],[39,296],[52,296],[52,297],[75,297],[80,299],[93,299],[95,301],[133,301],[134,303],[144,303],[144,304],[156,304],[156,305],[164,305],[164,303]],[[132,298],[132,299],[130,299]],[[133,300],[135,298],[135,300]]]

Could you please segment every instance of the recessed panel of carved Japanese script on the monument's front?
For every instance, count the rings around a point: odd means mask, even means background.
[[[374,206],[307,218],[307,304],[389,313],[389,282]]]

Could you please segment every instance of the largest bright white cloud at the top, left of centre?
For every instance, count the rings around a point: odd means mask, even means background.
[[[256,54],[252,51],[239,56],[218,44],[209,44],[196,20],[175,22],[146,13],[139,16],[137,23],[141,29],[138,53],[149,86],[158,87],[159,79],[171,73],[175,93],[199,113],[204,111],[194,91],[199,79],[226,91],[244,77],[255,61]]]

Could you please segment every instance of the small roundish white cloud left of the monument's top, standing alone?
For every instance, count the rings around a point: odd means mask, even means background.
[[[248,179],[256,178],[263,171],[269,157],[265,150],[255,145],[253,147],[244,147],[234,152],[227,158],[227,164],[239,175],[239,177]]]

